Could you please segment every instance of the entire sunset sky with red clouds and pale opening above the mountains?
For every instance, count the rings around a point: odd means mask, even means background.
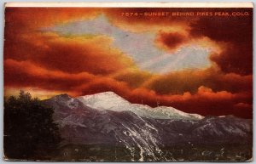
[[[123,16],[145,12],[249,16]],[[131,103],[252,118],[251,8],[6,8],[4,94],[113,91]]]

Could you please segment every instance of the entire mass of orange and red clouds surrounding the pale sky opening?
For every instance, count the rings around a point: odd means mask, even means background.
[[[204,116],[233,114],[251,118],[252,18],[121,15],[153,10],[169,11],[168,8],[6,8],[4,88],[31,88],[35,93],[73,96],[113,91],[132,103],[173,106]],[[181,8],[173,8],[174,12],[177,10]],[[218,45],[218,52],[210,56],[212,67],[152,74],[139,70],[129,57],[113,48],[111,37],[59,36],[40,31],[42,27],[68,21],[90,20],[102,13],[113,25],[125,30],[159,33],[156,38],[159,48],[176,49],[195,40],[203,46]]]

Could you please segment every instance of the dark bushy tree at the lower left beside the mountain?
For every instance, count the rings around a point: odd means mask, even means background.
[[[4,99],[4,154],[9,159],[47,159],[61,142],[54,109],[20,91]]]

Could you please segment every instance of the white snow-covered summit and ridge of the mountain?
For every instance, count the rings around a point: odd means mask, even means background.
[[[121,98],[119,95],[113,92],[96,93],[81,96],[78,99],[83,102],[84,105],[90,106],[91,108],[97,110],[130,110],[137,114],[137,116],[148,118],[188,120],[199,120],[204,118],[203,116],[185,113],[172,107],[158,106],[156,108],[152,108],[148,105],[131,104],[129,101]]]

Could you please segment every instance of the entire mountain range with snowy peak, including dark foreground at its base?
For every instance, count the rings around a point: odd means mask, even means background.
[[[54,120],[64,139],[62,160],[246,161],[252,157],[252,120],[136,105],[112,92],[79,98],[61,94],[43,102],[55,108]]]

